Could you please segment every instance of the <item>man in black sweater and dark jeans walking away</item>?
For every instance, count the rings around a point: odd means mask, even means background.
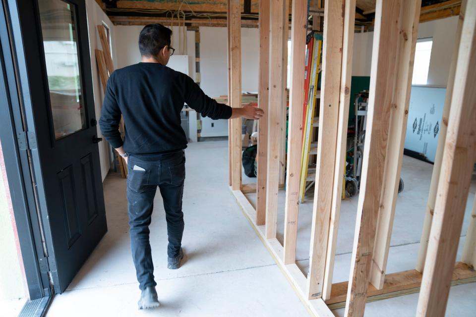
[[[149,243],[154,196],[164,200],[169,237],[168,268],[183,259],[182,194],[187,139],[180,126],[183,104],[212,119],[259,119],[263,110],[232,108],[206,96],[193,80],[167,67],[174,53],[172,31],[161,24],[146,25],[139,35],[141,62],[116,70],[107,84],[99,125],[104,137],[128,165],[129,235],[139,288],[139,309],[158,307]],[[239,105],[238,105],[239,106]],[[125,138],[119,133],[120,116]]]

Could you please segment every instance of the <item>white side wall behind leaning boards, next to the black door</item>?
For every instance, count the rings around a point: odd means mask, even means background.
[[[101,41],[99,39],[99,34],[96,28],[96,25],[105,22],[107,26],[110,28],[111,32],[111,41],[112,46],[114,48],[114,34],[115,34],[115,27],[108,16],[104,13],[104,11],[99,7],[99,5],[94,0],[86,0],[86,12],[88,17],[88,30],[89,30],[89,51],[91,57],[91,69],[92,69],[92,77],[93,77],[93,94],[94,94],[94,105],[96,110],[96,120],[99,120],[101,116],[101,107],[103,105],[103,88],[101,84],[101,79],[99,77],[99,70],[96,64],[96,54],[94,53],[95,49],[102,50]],[[112,51],[113,54],[113,61],[115,67],[117,67],[117,62],[115,61],[115,50]],[[107,143],[106,139],[102,136],[101,130],[99,128],[99,124],[97,125],[98,128],[98,137],[103,138],[103,142],[99,142],[99,159],[101,162],[101,176],[104,179],[109,172],[110,168],[110,147]]]

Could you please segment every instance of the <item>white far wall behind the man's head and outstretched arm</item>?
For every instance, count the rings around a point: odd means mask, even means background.
[[[118,68],[140,61],[137,47],[143,26],[115,27],[115,49]],[[172,28],[172,46],[179,49],[179,28]],[[189,76],[195,80],[195,32],[187,31],[186,54],[189,60]],[[241,29],[242,91],[258,91],[259,35],[258,29]],[[176,54],[179,53],[176,51]],[[200,86],[214,98],[228,94],[227,29],[200,27]],[[213,123],[213,127],[212,127]],[[202,118],[202,137],[228,135],[227,120]]]

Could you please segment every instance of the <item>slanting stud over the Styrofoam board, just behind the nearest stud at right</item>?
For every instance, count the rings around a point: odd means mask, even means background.
[[[461,12],[466,8],[466,0],[461,3]],[[425,265],[426,249],[428,248],[428,238],[430,235],[431,221],[433,220],[433,211],[435,210],[436,189],[440,177],[441,161],[443,159],[443,149],[446,141],[446,130],[448,127],[448,117],[451,108],[451,97],[453,96],[453,86],[455,82],[456,61],[458,58],[458,50],[460,47],[461,29],[463,28],[463,19],[458,19],[456,27],[455,44],[453,48],[453,55],[451,57],[450,70],[448,73],[448,83],[446,85],[445,103],[443,106],[443,114],[440,124],[440,134],[438,136],[438,145],[436,147],[435,161],[433,164],[433,172],[431,174],[430,191],[428,194],[428,201],[426,203],[425,219],[423,221],[423,229],[421,231],[420,247],[418,249],[418,256],[416,260],[416,270],[422,272]]]

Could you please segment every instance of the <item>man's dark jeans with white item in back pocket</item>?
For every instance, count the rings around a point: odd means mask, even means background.
[[[127,176],[127,209],[130,245],[139,288],[155,286],[154,264],[149,243],[149,225],[157,187],[164,200],[169,257],[179,255],[183,234],[182,195],[185,180],[183,150],[154,156],[130,156]],[[134,166],[139,169],[134,170]]]

